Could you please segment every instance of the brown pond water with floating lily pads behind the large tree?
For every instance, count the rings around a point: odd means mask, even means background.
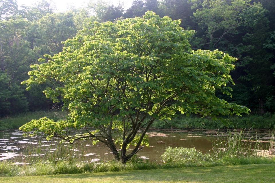
[[[160,161],[160,156],[166,147],[195,147],[204,153],[212,148],[211,142],[218,137],[226,138],[226,131],[223,130],[150,130],[149,146],[140,150],[137,157]],[[257,135],[263,143],[270,138],[267,130],[254,130],[247,134],[247,138]],[[56,144],[56,145],[55,145]],[[42,156],[44,153],[54,153],[58,141],[47,141],[41,137],[23,137],[19,130],[0,132],[0,160],[12,159],[14,162],[22,162],[25,156]],[[68,145],[64,145],[66,148]],[[39,153],[32,151],[40,149]],[[131,147],[129,148],[131,149]],[[113,158],[109,149],[103,144],[92,145],[92,140],[80,141],[73,146],[73,151],[80,152],[87,161],[108,160]],[[28,152],[27,152],[28,151]],[[26,155],[28,154],[28,155]],[[77,154],[77,153],[76,153]]]

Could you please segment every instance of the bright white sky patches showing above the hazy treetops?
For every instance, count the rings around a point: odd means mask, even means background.
[[[38,0],[17,0],[19,9],[20,9],[20,6],[23,4],[27,6],[31,6],[36,1]],[[58,12],[64,12],[72,6],[76,8],[85,7],[85,5],[90,0],[50,0],[50,1],[56,5],[56,9]],[[127,9],[131,6],[133,0],[109,0],[108,2],[111,2],[114,5],[117,5],[119,2],[121,2],[123,3],[124,8]]]

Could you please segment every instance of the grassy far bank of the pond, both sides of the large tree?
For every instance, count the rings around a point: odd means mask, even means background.
[[[19,114],[16,116],[10,116],[0,119],[0,130],[11,130],[18,129],[23,124],[31,121],[32,119],[39,119],[44,116],[57,120],[64,118],[65,112],[61,111],[38,111],[29,112],[25,114]],[[210,118],[199,118],[195,116],[178,116],[173,120],[157,120],[153,123],[151,128],[167,129],[167,128],[178,128],[178,129],[270,129],[275,126],[275,114],[266,113],[263,116],[260,115],[246,115],[242,117],[229,116],[226,117],[228,124],[224,124],[217,120]]]

